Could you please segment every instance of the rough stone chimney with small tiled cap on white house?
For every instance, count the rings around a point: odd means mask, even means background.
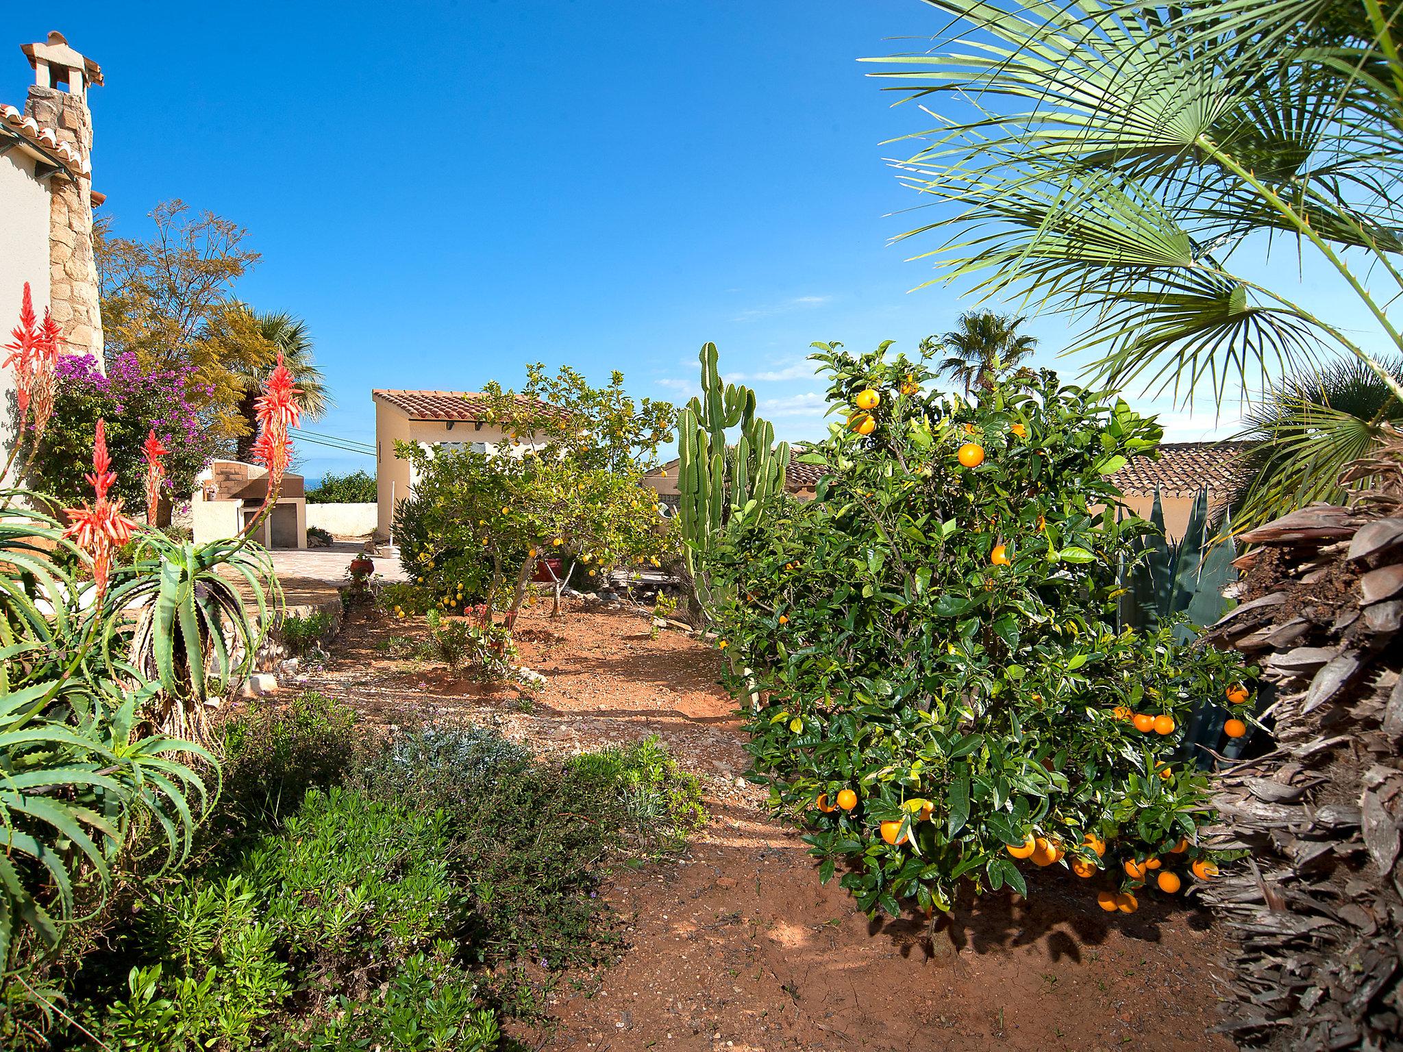
[[[53,177],[49,195],[49,307],[63,325],[65,351],[93,355],[102,367],[102,318],[98,313],[97,264],[93,259],[93,114],[88,90],[102,84],[102,67],[79,55],[63,34],[20,50],[34,67],[27,116],[52,128],[60,143],[80,156],[80,174]]]

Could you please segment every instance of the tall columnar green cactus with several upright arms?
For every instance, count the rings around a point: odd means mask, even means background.
[[[678,522],[703,614],[711,589],[699,555],[732,515],[784,488],[790,454],[787,442],[774,445],[774,426],[755,415],[755,391],[721,384],[717,358],[716,344],[703,345],[702,397],[689,401],[678,419]],[[725,432],[737,425],[739,438],[728,446]]]

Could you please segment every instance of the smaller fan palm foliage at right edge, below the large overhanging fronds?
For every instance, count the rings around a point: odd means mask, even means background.
[[[1403,379],[1403,366],[1390,372]],[[1240,481],[1228,501],[1237,532],[1313,501],[1343,502],[1340,474],[1396,433],[1403,401],[1372,369],[1344,359],[1274,386],[1243,424],[1233,438],[1251,446],[1236,460]]]

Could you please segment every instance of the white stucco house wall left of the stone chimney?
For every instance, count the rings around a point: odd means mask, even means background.
[[[34,178],[34,161],[21,150],[0,157],[0,344],[20,321],[24,283],[29,282],[34,309],[43,317],[49,306],[49,191]],[[14,373],[0,373],[0,445],[14,440],[10,393]]]

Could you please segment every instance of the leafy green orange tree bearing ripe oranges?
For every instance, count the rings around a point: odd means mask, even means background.
[[[1125,403],[1002,376],[932,393],[925,360],[817,344],[843,422],[803,457],[817,498],[738,515],[709,557],[751,710],[752,777],[868,913],[948,910],[961,879],[1026,893],[1059,865],[1132,910],[1211,872],[1207,780],[1176,762],[1235,656],[1118,631],[1121,568],[1152,529],[1108,476],[1162,431]],[[1024,863],[1024,860],[1027,860]]]

